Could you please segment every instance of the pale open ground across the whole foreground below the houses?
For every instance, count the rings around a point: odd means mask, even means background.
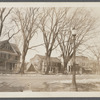
[[[0,92],[65,92],[70,91],[71,75],[0,75]],[[100,91],[99,75],[77,75],[78,91]]]

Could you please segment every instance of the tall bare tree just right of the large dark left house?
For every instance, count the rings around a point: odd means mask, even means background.
[[[24,8],[16,10],[16,18],[13,19],[18,30],[21,30],[22,36],[22,63],[20,72],[24,73],[24,63],[29,47],[30,41],[37,33],[39,23],[39,8]],[[33,47],[32,47],[33,48]]]

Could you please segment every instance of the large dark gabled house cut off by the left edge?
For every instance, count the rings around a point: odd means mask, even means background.
[[[20,51],[8,40],[0,41],[0,73],[12,73],[20,63]]]

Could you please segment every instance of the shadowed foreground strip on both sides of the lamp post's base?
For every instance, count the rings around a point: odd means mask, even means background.
[[[69,83],[44,83],[45,88],[38,88],[39,91],[44,92],[72,92],[70,91],[71,84]],[[78,91],[80,92],[94,92],[100,91],[100,83],[78,83],[77,84]],[[35,89],[36,90],[36,89]],[[34,89],[33,89],[34,91]],[[34,91],[35,92],[35,91]]]

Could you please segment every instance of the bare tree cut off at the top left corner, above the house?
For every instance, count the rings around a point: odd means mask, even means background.
[[[7,17],[10,15],[13,8],[0,8],[0,36],[3,34],[3,28]]]

